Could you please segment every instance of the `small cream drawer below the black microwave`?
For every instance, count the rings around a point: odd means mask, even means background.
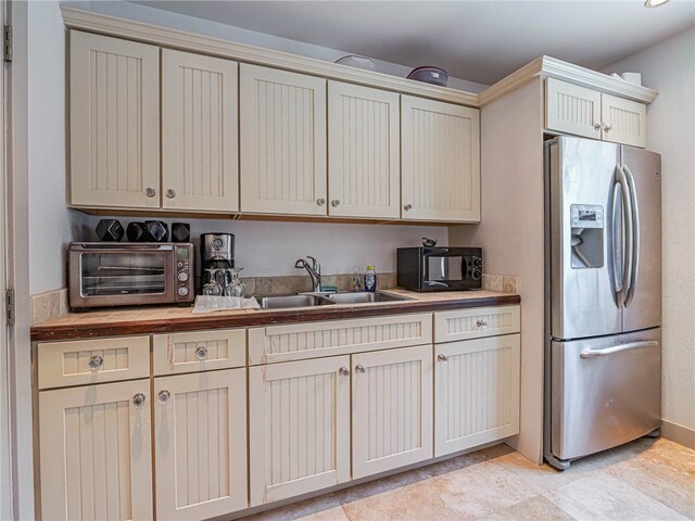
[[[477,307],[434,314],[434,342],[519,332],[519,306]]]

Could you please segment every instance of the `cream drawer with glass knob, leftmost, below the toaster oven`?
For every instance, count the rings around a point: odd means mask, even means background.
[[[39,389],[150,377],[150,336],[41,342]]]

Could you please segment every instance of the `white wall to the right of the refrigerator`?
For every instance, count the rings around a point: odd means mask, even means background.
[[[647,148],[661,154],[664,419],[695,430],[695,27],[605,68],[659,91]]]

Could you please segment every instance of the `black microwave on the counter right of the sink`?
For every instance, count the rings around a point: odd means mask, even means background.
[[[399,247],[396,284],[414,291],[482,288],[481,247]]]

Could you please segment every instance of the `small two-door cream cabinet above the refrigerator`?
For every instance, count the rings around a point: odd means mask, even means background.
[[[545,128],[644,148],[646,105],[547,78]]]

